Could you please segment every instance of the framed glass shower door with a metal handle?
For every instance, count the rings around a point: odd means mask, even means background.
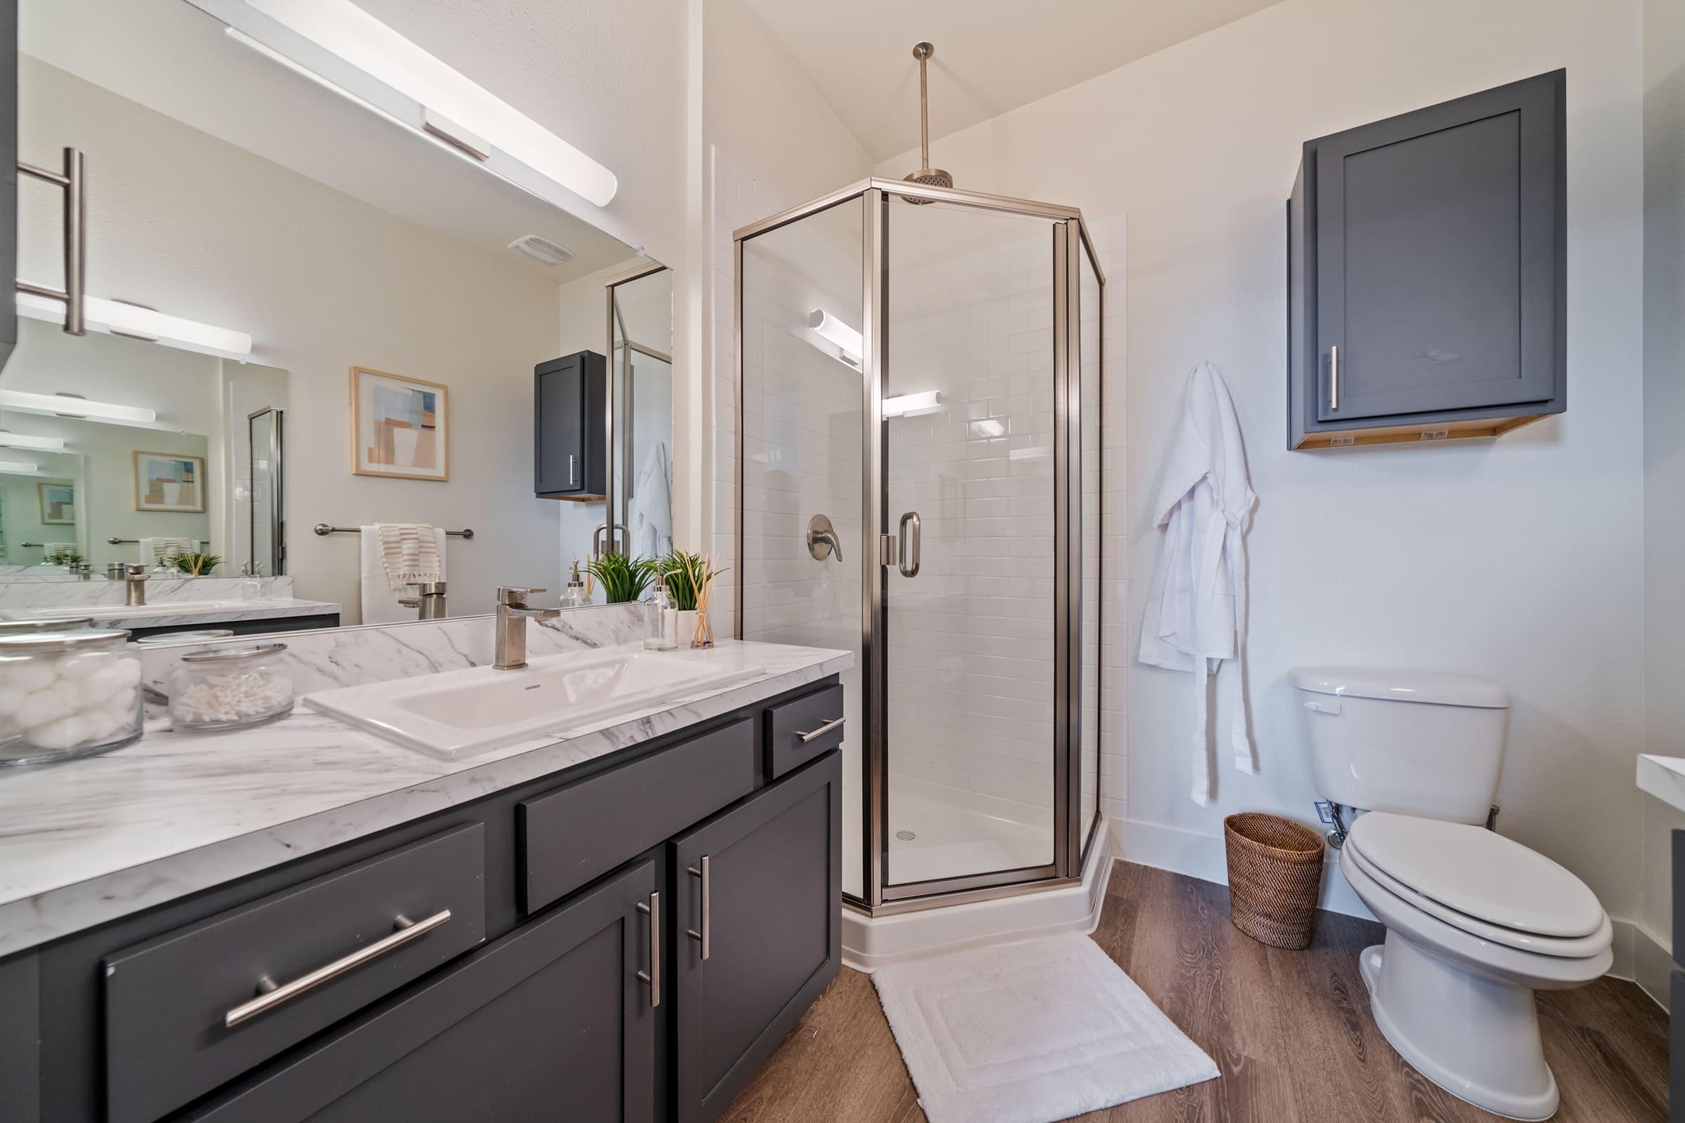
[[[885,897],[1051,876],[1055,232],[885,205]]]

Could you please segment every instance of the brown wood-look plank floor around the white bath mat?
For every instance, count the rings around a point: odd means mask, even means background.
[[[1265,948],[1228,923],[1227,887],[1119,862],[1094,939],[1223,1074],[1080,1123],[1496,1120],[1420,1076],[1375,1027],[1358,953],[1382,934],[1323,913],[1304,951]],[[1559,1123],[1665,1123],[1668,1017],[1636,985],[1543,993],[1538,1020]],[[844,970],[721,1120],[925,1123],[871,980]]]

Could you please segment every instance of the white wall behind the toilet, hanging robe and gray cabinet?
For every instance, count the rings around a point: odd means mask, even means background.
[[[1247,434],[1260,495],[1249,549],[1262,773],[1225,768],[1215,806],[1195,806],[1191,680],[1132,667],[1127,746],[1109,746],[1127,748],[1127,815],[1144,825],[1124,832],[1126,854],[1153,849],[1220,876],[1223,815],[1309,818],[1291,667],[1479,672],[1515,697],[1503,832],[1574,869],[1611,914],[1636,914],[1640,62],[1636,0],[1286,0],[932,145],[960,187],[1129,214],[1131,626],[1159,544],[1151,497],[1195,362],[1223,370]],[[1559,66],[1569,412],[1498,441],[1286,451],[1282,202],[1299,145]],[[908,153],[881,172],[912,167]]]

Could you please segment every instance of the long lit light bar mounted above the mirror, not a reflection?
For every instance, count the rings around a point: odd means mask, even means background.
[[[420,103],[430,128],[457,146],[475,152],[479,141],[500,148],[598,207],[615,197],[620,185],[613,172],[350,0],[246,3]]]

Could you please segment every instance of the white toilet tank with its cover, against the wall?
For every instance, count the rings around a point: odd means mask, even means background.
[[[1324,800],[1486,822],[1510,726],[1503,687],[1464,675],[1350,667],[1308,667],[1287,680]]]

